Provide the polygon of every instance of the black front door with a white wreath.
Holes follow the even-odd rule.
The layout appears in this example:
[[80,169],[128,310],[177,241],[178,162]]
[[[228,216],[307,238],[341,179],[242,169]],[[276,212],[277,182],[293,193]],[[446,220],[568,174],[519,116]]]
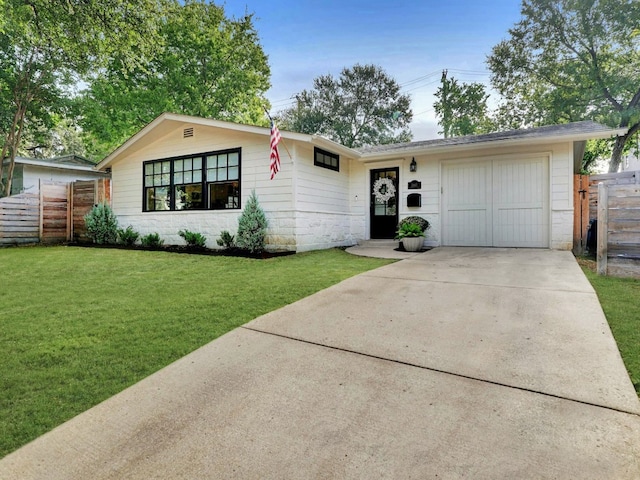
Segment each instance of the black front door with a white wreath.
[[371,238],[393,238],[398,226],[398,168],[371,170]]

